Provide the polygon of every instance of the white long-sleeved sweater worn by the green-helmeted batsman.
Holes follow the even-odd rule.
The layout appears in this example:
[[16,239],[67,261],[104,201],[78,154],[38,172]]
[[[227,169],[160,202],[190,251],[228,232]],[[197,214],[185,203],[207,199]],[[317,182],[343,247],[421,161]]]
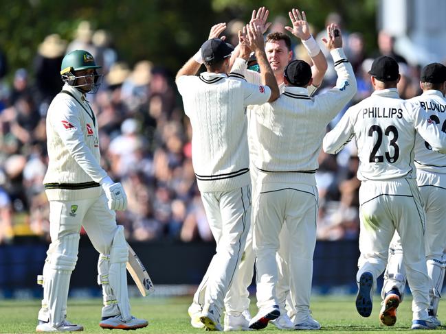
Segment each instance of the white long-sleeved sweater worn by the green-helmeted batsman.
[[107,172],[100,167],[98,124],[85,96],[65,84],[49,106],[46,123],[48,200],[98,197]]

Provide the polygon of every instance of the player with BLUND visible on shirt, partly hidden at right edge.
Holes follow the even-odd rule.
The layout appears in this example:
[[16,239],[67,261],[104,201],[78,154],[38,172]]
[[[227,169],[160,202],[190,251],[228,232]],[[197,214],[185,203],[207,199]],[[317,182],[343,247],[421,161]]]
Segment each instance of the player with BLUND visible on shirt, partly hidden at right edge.
[[[409,99],[408,102],[421,107],[425,115],[446,132],[446,67],[434,62],[421,71],[421,89],[423,94]],[[445,279],[446,266],[446,156],[432,150],[430,143],[419,134],[415,139],[416,182],[424,202],[426,230],[424,234],[427,274],[430,278],[430,307],[432,320],[441,325],[437,318],[438,302]],[[384,285],[381,291],[383,307],[380,319],[383,324],[393,326],[397,321],[396,309],[402,301],[406,270],[403,265],[404,252],[401,238],[397,233],[389,249],[389,260],[384,273]]]

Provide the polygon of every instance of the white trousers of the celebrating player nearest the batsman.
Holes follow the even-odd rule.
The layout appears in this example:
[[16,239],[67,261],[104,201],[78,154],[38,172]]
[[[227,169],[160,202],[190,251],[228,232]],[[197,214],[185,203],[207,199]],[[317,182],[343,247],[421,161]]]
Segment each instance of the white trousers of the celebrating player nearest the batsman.
[[245,249],[250,226],[251,185],[233,191],[201,192],[201,200],[216,241],[216,254],[194,294],[194,304],[201,309],[204,305],[214,305],[221,313]]

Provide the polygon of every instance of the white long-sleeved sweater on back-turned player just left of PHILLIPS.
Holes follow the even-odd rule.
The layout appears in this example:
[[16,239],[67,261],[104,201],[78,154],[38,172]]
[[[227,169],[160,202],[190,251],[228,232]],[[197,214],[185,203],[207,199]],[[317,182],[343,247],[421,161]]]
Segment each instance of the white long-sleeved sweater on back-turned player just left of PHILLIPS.
[[[317,156],[326,126],[357,91],[355,75],[344,51],[335,49],[331,55],[337,72],[335,87],[309,97],[307,88],[286,86],[275,102],[253,108],[256,128],[250,130],[255,130],[259,141],[254,165],[260,171],[260,182],[315,185]],[[311,86],[311,93],[314,90]]]

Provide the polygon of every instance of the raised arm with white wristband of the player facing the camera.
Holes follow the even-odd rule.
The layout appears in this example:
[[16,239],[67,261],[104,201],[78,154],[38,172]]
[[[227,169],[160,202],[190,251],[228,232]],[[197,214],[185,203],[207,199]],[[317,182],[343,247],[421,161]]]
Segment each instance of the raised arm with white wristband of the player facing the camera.
[[310,34],[305,12],[302,11],[302,14],[300,14],[298,9],[293,8],[288,15],[293,27],[287,26],[285,29],[302,41],[302,45],[304,45],[311,60],[313,60],[313,66],[311,67],[313,85],[320,86],[328,67],[324,53],[322,53],[319,45],[317,45],[315,39]]

